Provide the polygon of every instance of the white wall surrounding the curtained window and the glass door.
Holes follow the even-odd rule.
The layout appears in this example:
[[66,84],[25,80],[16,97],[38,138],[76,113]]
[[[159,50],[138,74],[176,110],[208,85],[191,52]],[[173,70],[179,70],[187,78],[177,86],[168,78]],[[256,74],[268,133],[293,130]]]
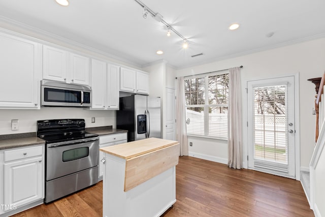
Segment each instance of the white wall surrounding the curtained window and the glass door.
[[[176,71],[176,75],[177,77],[194,75],[241,65],[244,66],[241,70],[243,127],[247,121],[247,101],[245,94],[247,81],[283,75],[296,75],[299,73],[301,168],[308,170],[314,147],[315,116],[312,115],[312,108],[314,105],[315,86],[307,81],[307,79],[321,77],[325,70],[325,38],[180,69]],[[191,140],[189,138],[189,142]],[[211,143],[216,146],[214,151],[211,151],[209,148]],[[243,135],[243,143],[247,147],[247,134]],[[199,145],[199,147],[196,147],[196,145]],[[210,142],[202,140],[201,144],[193,143],[193,146],[189,147],[189,151],[193,150],[216,159],[222,158],[227,154],[224,144],[216,140],[211,140]],[[244,150],[244,156],[246,154],[247,150]]]

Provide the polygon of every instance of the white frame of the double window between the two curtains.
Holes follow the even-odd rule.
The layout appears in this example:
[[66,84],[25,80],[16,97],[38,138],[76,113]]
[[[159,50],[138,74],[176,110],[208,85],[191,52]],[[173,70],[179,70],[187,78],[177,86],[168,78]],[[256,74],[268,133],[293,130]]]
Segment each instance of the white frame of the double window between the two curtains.
[[[218,139],[218,140],[224,140],[227,141],[228,140],[228,136],[226,137],[221,137],[221,136],[211,136],[209,135],[209,108],[216,108],[216,107],[229,107],[229,98],[226,104],[209,104],[209,77],[213,77],[213,76],[218,76],[218,75],[224,75],[227,74],[229,76],[229,70],[222,70],[219,72],[211,72],[211,73],[204,73],[204,74],[198,74],[198,75],[192,75],[192,76],[186,76],[184,77],[184,83],[185,80],[188,79],[196,79],[196,78],[204,78],[204,104],[202,105],[186,105],[186,100],[185,100],[185,117],[186,117],[186,110],[187,108],[197,108],[197,107],[202,107],[203,108],[203,113],[204,113],[204,133],[203,134],[190,134],[187,133],[187,128],[186,128],[186,133],[187,136],[190,137],[203,137],[203,138],[210,138],[210,139]],[[229,85],[229,77],[228,77],[228,85]],[[229,88],[228,88],[229,89]],[[185,90],[185,86],[184,86],[184,90]],[[186,96],[184,96],[186,99]],[[228,118],[228,117],[227,117]],[[187,119],[187,117],[186,117]],[[187,123],[185,123],[187,125]],[[228,125],[227,125],[227,134],[228,134]]]

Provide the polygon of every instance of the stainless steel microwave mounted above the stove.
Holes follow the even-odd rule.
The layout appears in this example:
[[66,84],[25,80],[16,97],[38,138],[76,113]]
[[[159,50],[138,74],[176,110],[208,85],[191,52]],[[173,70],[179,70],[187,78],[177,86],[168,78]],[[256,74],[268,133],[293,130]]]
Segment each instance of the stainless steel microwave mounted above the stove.
[[42,106],[90,107],[91,88],[58,81],[41,81]]

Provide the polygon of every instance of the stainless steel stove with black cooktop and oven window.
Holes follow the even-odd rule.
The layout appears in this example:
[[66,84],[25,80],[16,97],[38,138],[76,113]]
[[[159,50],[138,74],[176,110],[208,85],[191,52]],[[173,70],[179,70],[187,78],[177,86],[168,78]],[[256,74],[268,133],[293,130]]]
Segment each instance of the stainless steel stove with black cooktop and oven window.
[[45,143],[45,203],[98,182],[99,136],[85,132],[84,119],[37,121]]

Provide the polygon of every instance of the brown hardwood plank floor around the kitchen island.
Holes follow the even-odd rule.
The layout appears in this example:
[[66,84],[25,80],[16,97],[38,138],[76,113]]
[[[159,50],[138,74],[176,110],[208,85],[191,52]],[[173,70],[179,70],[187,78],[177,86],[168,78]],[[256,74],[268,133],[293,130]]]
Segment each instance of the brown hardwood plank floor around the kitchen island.
[[[103,216],[103,182],[14,216]],[[314,216],[300,181],[181,157],[170,216]]]

